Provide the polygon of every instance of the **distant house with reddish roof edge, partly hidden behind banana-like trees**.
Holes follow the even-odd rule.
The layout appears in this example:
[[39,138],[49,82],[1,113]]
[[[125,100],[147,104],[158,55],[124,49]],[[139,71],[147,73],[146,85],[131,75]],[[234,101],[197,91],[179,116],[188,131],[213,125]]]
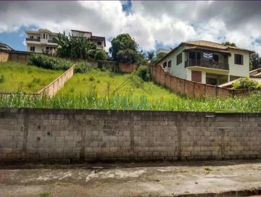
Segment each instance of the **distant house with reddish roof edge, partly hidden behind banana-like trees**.
[[92,32],[89,31],[79,31],[79,30],[71,30],[72,35],[76,37],[87,37],[89,38],[94,44],[97,46],[97,49],[102,49],[104,50],[106,46],[106,41],[105,37],[100,37],[100,36],[93,36]]

